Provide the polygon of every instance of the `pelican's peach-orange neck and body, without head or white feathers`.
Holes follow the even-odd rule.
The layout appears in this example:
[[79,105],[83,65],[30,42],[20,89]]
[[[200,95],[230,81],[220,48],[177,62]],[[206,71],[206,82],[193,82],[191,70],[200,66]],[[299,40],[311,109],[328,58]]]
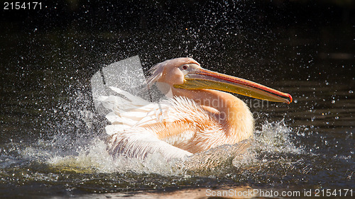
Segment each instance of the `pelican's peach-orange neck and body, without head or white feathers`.
[[[216,99],[218,101],[214,101]],[[212,101],[223,106],[209,106],[207,103]],[[155,132],[158,139],[192,154],[222,144],[235,144],[253,133],[253,116],[249,108],[229,93],[189,90],[170,103],[174,106],[170,118],[146,128]]]

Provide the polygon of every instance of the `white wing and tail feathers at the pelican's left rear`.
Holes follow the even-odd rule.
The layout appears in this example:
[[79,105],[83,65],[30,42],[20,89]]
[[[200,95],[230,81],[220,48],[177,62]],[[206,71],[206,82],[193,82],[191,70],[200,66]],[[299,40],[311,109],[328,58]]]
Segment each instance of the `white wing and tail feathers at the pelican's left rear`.
[[102,106],[112,110],[106,115],[111,123],[106,127],[106,132],[111,135],[108,142],[109,152],[118,157],[136,157],[144,159],[148,154],[160,153],[167,160],[183,159],[192,155],[158,137],[143,125],[160,123],[168,118],[170,103],[151,103],[121,89],[110,87],[119,96],[101,96],[98,101]]

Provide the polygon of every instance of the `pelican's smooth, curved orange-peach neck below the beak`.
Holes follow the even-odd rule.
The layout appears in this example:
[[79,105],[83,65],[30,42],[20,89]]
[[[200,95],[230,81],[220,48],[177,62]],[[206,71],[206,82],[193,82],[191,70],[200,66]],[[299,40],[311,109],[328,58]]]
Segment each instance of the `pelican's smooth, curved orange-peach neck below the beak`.
[[[253,115],[236,96],[216,90],[187,90],[172,88],[173,96],[185,96],[205,107],[223,126],[226,136],[236,140],[248,139],[253,133]],[[217,111],[214,111],[217,110]]]

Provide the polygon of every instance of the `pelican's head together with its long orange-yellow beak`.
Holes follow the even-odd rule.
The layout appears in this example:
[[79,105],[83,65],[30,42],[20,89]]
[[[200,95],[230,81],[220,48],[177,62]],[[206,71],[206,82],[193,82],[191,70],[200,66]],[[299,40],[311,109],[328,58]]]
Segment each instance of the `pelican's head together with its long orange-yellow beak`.
[[288,93],[283,93],[246,79],[203,69],[195,59],[188,57],[169,59],[156,64],[151,69],[148,86],[151,86],[156,81],[169,84],[171,87],[178,89],[214,89],[266,101],[292,102],[292,96]]

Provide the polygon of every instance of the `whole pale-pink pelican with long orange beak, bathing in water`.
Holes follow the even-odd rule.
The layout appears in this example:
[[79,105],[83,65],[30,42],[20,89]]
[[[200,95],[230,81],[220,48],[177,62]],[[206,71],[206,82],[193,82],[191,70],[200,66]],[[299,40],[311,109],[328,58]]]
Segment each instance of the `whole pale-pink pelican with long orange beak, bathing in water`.
[[231,93],[292,102],[288,93],[203,69],[188,57],[168,59],[150,72],[148,87],[165,85],[168,99],[152,103],[114,87],[111,89],[118,95],[99,98],[111,111],[106,116],[111,122],[106,132],[110,135],[108,152],[114,157],[145,159],[149,154],[160,154],[167,160],[186,159],[251,138],[253,115],[246,103]]

